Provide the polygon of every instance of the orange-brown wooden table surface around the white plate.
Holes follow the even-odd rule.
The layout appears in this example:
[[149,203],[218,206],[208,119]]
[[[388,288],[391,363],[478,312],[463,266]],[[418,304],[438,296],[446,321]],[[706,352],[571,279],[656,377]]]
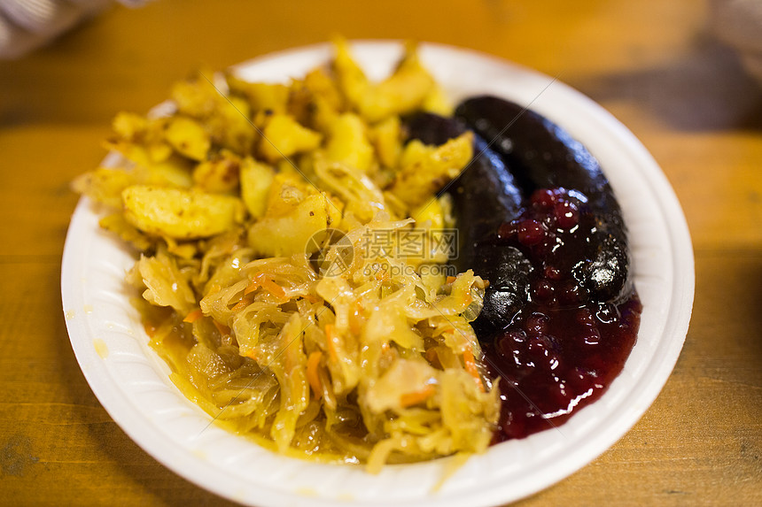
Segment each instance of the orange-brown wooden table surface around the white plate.
[[0,503],[224,504],[122,433],[85,382],[59,295],[75,175],[117,111],[333,33],[482,50],[578,88],[632,129],[688,218],[696,303],[641,421],[525,505],[762,504],[762,92],[706,30],[701,2],[181,2],[115,7],[0,63]]

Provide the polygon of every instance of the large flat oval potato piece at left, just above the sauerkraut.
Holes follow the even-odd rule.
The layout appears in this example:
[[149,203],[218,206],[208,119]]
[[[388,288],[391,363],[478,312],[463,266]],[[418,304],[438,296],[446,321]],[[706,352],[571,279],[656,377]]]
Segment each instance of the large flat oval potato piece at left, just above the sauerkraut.
[[176,240],[220,234],[244,219],[244,206],[237,197],[148,185],[125,188],[121,197],[128,223],[144,233]]

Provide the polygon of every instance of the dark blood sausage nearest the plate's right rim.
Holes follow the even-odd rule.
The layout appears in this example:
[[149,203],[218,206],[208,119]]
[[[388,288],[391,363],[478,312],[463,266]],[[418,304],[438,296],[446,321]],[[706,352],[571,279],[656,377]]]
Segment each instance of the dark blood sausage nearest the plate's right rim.
[[[580,211],[595,217],[584,259],[574,278],[599,301],[621,302],[631,293],[630,258],[622,211],[601,165],[562,127],[522,106],[494,96],[460,104],[455,116],[490,142],[526,196],[542,188],[577,190],[587,196]],[[573,196],[573,192],[571,192]]]

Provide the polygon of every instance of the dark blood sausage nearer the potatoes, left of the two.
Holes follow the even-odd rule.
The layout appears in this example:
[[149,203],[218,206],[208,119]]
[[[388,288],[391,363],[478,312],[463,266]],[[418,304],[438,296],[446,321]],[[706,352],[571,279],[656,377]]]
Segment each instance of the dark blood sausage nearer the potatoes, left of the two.
[[[439,145],[465,132],[456,119],[419,113],[406,121],[408,138]],[[453,198],[458,226],[458,253],[450,260],[459,272],[473,269],[489,280],[484,308],[473,322],[479,337],[492,336],[509,325],[529,297],[532,269],[517,248],[502,245],[497,230],[522,211],[522,196],[501,157],[478,135],[470,165],[446,189]]]

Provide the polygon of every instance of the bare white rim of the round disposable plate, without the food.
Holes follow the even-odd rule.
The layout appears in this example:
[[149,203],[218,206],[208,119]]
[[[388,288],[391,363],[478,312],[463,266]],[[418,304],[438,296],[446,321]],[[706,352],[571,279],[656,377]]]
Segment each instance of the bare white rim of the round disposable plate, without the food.
[[[357,42],[369,76],[388,73],[397,42]],[[231,500],[280,505],[496,505],[531,495],[579,470],[629,430],[672,372],[688,330],[694,267],[680,204],[649,152],[607,111],[548,76],[469,50],[434,44],[421,58],[455,99],[481,93],[530,104],[584,142],[603,165],[624,210],[643,303],[641,330],[624,371],[603,397],[557,430],[501,443],[435,490],[445,460],[387,466],[319,465],[276,456],[209,426],[210,418],[167,379],[128,303],[134,257],[99,230],[82,199],[69,227],[61,288],[72,347],[106,411],[146,452],[188,480]],[[250,80],[286,81],[330,58],[327,45],[239,65]]]

